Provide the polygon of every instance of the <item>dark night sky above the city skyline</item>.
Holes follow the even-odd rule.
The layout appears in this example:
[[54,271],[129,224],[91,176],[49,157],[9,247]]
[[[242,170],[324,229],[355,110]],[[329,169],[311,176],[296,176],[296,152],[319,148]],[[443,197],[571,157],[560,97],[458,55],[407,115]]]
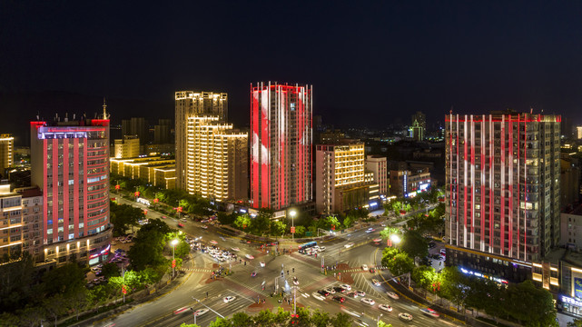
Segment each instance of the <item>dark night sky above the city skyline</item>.
[[314,114],[340,127],[451,107],[582,123],[582,2],[0,3],[0,133],[52,99],[94,113],[107,96],[114,122],[153,122],[190,89],[227,92],[244,126],[250,84],[268,80],[313,84]]

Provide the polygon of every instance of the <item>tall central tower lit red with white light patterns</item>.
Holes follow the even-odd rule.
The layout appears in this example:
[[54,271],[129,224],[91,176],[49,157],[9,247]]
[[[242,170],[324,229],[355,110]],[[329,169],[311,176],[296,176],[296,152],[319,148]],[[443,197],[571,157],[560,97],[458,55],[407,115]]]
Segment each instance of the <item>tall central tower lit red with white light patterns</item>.
[[252,207],[311,202],[311,94],[311,85],[251,84]]

